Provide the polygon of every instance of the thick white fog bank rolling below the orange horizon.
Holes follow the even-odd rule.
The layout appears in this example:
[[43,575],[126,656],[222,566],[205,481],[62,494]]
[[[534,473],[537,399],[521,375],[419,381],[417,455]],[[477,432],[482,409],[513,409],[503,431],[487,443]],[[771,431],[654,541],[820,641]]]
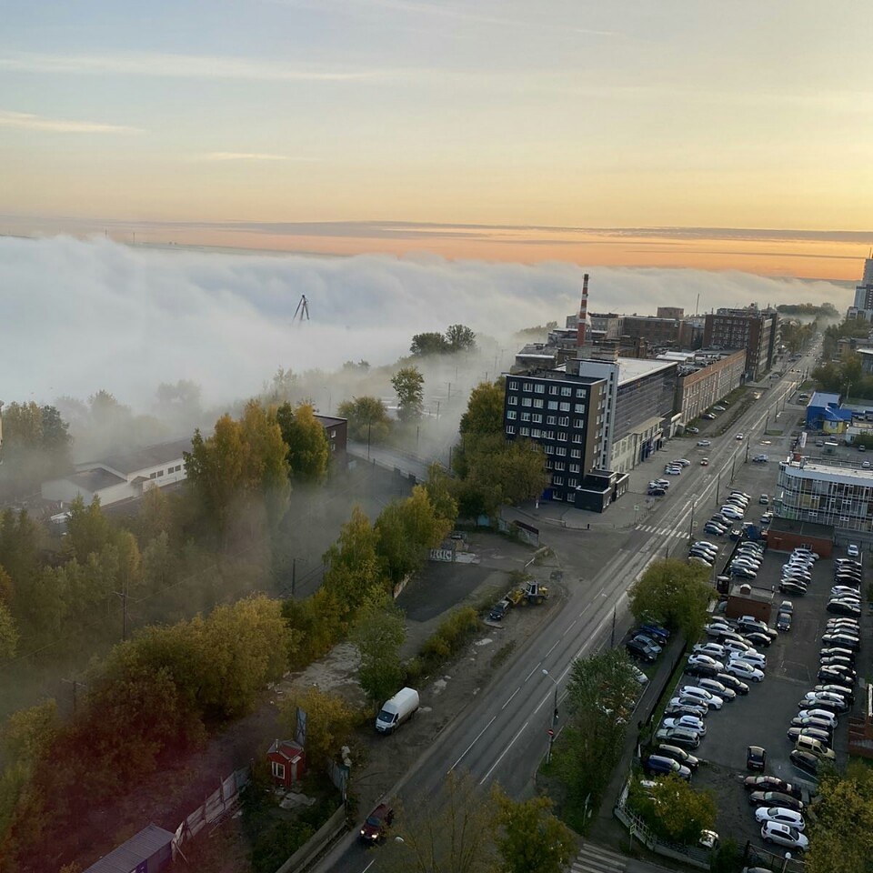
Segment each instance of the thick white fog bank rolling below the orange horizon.
[[[158,384],[186,379],[216,405],[256,394],[279,366],[298,373],[334,370],[346,360],[388,364],[408,353],[413,334],[457,323],[495,337],[494,347],[503,348],[495,363],[505,368],[516,330],[563,325],[576,311],[584,272],[564,263],[235,255],[102,238],[2,237],[0,398],[51,403],[105,388],[147,411]],[[588,272],[594,312],[654,314],[658,305],[694,312],[698,294],[700,311],[752,301],[829,300],[840,310],[849,303],[844,286],[824,281]],[[302,325],[293,320],[301,295],[310,315]],[[334,411],[339,399],[329,399]],[[324,400],[321,406],[326,411]]]

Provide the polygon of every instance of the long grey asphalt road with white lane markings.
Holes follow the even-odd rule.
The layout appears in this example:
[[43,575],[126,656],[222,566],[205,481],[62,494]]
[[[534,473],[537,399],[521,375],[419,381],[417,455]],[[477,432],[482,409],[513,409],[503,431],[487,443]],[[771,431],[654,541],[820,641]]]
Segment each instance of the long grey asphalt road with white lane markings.
[[[717,492],[723,496],[732,471],[745,460],[747,443],[738,442],[735,434],[761,434],[771,411],[793,390],[809,359],[793,366],[798,372],[789,370],[784,378],[774,380],[730,432],[713,440],[707,449],[708,467],[687,467],[676,477],[669,501],[647,518],[650,525],[659,526],[657,530],[600,535],[596,543],[581,531],[549,528],[544,538],[563,566],[571,568],[565,573],[565,581],[569,577],[571,582],[566,605],[476,703],[458,714],[389,796],[399,795],[407,805],[416,798],[431,798],[453,770],[467,771],[482,787],[499,781],[511,797],[531,793],[537,766],[547,751],[556,693],[560,703],[573,660],[610,645],[614,622],[623,627],[627,621],[627,588],[653,560],[664,557],[667,549],[684,551],[694,515],[702,517],[705,503],[714,506]],[[575,574],[577,581],[573,581]],[[619,631],[615,637],[620,638]],[[377,854],[356,845],[355,835],[353,830],[341,840],[316,870],[376,873]]]

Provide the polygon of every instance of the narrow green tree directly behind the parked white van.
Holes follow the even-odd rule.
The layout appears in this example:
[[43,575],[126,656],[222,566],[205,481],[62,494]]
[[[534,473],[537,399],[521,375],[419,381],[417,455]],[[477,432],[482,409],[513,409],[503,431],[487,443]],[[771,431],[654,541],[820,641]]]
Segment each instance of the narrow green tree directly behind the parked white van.
[[396,693],[404,679],[400,647],[406,622],[384,591],[371,593],[357,611],[351,633],[361,656],[358,681],[367,697],[379,704]]

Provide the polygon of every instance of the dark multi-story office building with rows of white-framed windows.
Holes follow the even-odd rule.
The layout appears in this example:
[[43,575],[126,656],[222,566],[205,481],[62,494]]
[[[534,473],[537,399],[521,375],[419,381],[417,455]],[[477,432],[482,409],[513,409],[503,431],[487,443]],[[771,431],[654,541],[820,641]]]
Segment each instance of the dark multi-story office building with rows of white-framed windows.
[[600,457],[606,390],[605,379],[574,376],[563,369],[507,376],[506,436],[527,437],[543,447],[551,473],[546,497],[581,506],[579,497],[591,486]]

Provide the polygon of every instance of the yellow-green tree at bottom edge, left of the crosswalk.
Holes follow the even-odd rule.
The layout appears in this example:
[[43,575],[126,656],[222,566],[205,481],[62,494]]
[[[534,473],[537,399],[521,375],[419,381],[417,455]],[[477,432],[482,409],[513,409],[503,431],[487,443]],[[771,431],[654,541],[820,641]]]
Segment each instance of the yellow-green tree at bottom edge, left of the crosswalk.
[[577,853],[570,828],[552,814],[546,797],[516,801],[499,788],[497,804],[497,852],[506,873],[564,873]]

